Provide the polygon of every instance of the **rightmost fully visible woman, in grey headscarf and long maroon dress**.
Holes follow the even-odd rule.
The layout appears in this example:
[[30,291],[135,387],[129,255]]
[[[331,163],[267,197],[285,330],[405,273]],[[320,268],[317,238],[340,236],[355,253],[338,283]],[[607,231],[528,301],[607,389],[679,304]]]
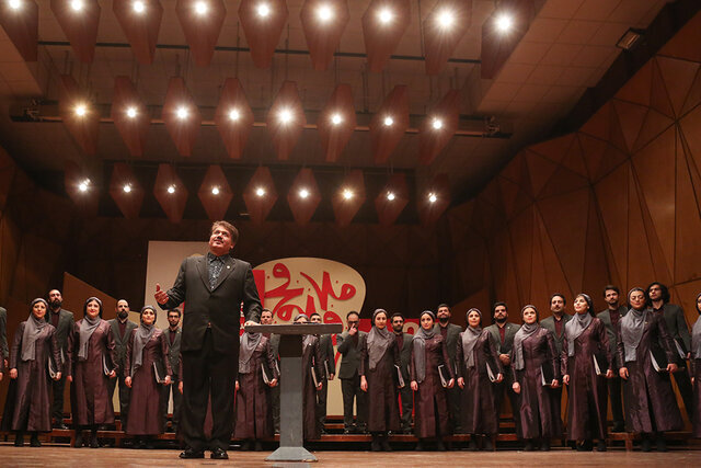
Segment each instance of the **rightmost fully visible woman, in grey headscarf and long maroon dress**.
[[[643,452],[651,450],[653,436],[657,450],[666,452],[663,433],[683,426],[669,378],[669,373],[677,370],[676,347],[664,317],[647,308],[642,288],[631,289],[628,303],[631,309],[618,322],[617,349],[625,423],[629,431],[641,433]],[[666,362],[662,362],[663,356]],[[659,370],[655,370],[655,364]]]

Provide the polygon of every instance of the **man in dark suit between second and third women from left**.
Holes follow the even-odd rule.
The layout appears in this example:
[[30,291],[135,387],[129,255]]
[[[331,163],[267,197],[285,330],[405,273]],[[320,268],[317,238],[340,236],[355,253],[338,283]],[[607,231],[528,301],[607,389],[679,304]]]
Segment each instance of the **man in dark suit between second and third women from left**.
[[[107,320],[112,328],[112,336],[114,336],[114,355],[117,365],[117,378],[119,380],[119,421],[122,422],[122,430],[127,426],[127,415],[129,414],[129,395],[130,389],[127,387],[124,379],[129,375],[129,369],[125,369],[127,359],[127,343],[131,335],[131,330],[138,326],[129,320],[129,303],[126,299],[117,300],[115,307],[117,318]],[[114,389],[117,385],[117,379],[110,379],[110,396],[114,395]]]

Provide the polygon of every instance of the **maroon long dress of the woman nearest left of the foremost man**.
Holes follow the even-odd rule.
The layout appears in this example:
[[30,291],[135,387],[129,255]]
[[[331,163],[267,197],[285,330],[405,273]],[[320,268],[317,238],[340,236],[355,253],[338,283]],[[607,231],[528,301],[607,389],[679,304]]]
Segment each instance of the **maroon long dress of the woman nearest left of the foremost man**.
[[[131,330],[127,342],[125,375],[131,373],[134,355],[134,339],[138,328]],[[162,385],[156,381],[153,363],[163,364],[165,374],[173,376],[170,359],[168,359],[169,343],[163,331],[156,329],[146,342],[141,354],[141,366],[131,376],[131,396],[129,398],[129,418],[127,418],[126,433],[129,435],[157,435],[163,433],[163,413],[161,407]],[[177,390],[176,390],[177,391]]]

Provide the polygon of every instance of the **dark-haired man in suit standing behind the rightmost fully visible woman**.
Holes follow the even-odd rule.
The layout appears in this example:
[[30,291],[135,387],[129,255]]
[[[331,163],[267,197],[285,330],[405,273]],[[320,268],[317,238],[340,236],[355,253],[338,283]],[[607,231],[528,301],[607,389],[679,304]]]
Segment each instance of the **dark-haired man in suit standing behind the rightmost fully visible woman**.
[[669,303],[669,289],[662,283],[654,282],[647,286],[647,298],[652,303],[653,312],[664,317],[667,332],[671,336],[673,350],[675,351],[675,363],[677,372],[674,373],[679,395],[687,409],[689,420],[693,419],[693,389],[691,388],[691,377],[687,372],[687,359],[691,349],[691,335],[689,326],[680,306]]

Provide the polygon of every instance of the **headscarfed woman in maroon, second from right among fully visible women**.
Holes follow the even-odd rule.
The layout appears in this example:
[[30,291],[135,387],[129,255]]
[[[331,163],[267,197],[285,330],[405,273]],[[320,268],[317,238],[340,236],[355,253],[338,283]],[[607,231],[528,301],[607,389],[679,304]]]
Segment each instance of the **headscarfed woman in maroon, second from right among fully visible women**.
[[[609,338],[604,322],[594,317],[594,301],[586,294],[574,299],[574,319],[565,323],[562,344],[562,381],[568,385],[567,438],[579,452],[606,452],[607,384],[613,377]],[[598,366],[598,368],[597,368]]]

